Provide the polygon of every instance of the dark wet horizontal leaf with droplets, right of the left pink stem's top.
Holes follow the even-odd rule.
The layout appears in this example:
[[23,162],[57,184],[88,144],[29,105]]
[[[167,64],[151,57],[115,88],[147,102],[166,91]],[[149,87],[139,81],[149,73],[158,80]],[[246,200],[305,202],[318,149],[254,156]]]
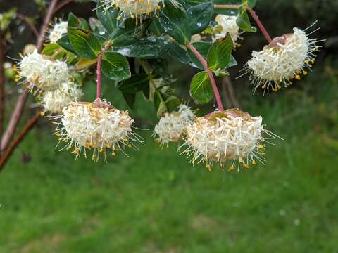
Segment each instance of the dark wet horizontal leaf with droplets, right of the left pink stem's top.
[[114,47],[113,51],[135,58],[158,58],[168,51],[168,41],[164,37],[149,36],[129,46]]

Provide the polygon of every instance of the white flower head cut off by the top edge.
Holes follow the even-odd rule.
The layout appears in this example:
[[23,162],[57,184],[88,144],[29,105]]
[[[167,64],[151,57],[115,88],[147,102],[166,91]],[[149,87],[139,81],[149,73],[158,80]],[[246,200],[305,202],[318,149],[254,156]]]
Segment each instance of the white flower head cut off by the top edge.
[[[165,6],[163,0],[102,0],[101,2],[104,5],[104,10],[113,6],[120,8],[122,13],[119,18],[126,15],[130,15],[131,18],[139,18],[142,15],[154,13],[159,10],[161,6]],[[174,5],[177,4],[175,0],[170,0],[170,2]]]

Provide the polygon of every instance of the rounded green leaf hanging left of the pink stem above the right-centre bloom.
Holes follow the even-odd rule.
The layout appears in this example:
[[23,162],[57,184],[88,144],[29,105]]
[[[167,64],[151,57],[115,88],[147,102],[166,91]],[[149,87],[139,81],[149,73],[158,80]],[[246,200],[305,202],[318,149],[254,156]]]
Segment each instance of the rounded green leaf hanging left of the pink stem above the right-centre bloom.
[[202,104],[208,103],[213,98],[213,87],[207,72],[202,71],[194,75],[190,85],[190,96],[196,103]]

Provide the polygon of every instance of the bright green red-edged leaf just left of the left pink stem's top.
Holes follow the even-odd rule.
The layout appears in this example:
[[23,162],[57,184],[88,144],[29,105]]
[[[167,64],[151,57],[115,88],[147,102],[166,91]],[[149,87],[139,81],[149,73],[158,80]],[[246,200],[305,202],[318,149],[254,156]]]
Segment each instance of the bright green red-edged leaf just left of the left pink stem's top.
[[99,40],[89,30],[68,27],[68,36],[78,56],[94,59],[101,52]]

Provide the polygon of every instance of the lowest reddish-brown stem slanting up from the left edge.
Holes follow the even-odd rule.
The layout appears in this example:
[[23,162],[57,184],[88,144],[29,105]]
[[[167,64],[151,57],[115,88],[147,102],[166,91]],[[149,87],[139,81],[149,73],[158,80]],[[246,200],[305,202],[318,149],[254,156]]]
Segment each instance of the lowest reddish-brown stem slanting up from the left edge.
[[16,146],[20,143],[20,141],[23,140],[25,135],[32,129],[32,127],[37,123],[39,118],[41,117],[41,112],[36,112],[34,117],[32,117],[25,126],[23,126],[23,130],[20,132],[20,134],[13,140],[11,145],[6,149],[3,155],[0,157],[0,172],[2,169],[4,169],[4,164],[6,164],[9,157],[11,157],[13,151],[15,150]]

